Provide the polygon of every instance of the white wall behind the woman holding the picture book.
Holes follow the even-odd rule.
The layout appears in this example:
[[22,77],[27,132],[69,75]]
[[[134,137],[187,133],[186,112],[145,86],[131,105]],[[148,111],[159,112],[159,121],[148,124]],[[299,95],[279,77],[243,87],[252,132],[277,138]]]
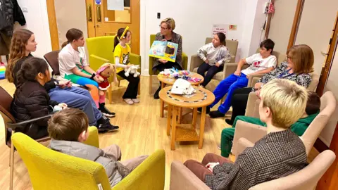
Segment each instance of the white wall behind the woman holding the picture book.
[[[190,56],[204,45],[206,37],[211,37],[213,24],[237,25],[236,31],[228,32],[227,39],[239,41],[237,60],[248,56],[251,39],[256,37],[256,33],[253,35],[253,23],[255,20],[261,25],[264,23],[264,18],[263,21],[258,15],[256,18],[256,10],[257,13],[263,15],[263,0],[173,0],[170,4],[167,2],[163,0],[141,1],[142,75],[148,73],[150,34],[160,32],[158,25],[164,18],[175,19],[175,32],[183,37],[183,51],[187,53],[189,61]],[[157,13],[161,13],[161,19],[157,18]],[[259,43],[259,35],[256,42]],[[255,46],[254,43],[252,46]],[[254,48],[255,51],[256,48],[257,46]]]

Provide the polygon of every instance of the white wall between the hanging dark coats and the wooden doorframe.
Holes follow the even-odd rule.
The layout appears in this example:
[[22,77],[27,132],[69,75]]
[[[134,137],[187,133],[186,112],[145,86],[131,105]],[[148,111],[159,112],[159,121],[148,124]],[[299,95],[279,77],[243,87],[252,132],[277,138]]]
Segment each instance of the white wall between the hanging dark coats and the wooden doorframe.
[[[23,13],[27,22],[24,27],[34,32],[38,44],[37,51],[33,55],[42,58],[45,53],[51,51],[46,0],[18,0],[18,4],[21,8],[27,8],[28,12]],[[18,28],[20,25],[15,25],[15,30]]]

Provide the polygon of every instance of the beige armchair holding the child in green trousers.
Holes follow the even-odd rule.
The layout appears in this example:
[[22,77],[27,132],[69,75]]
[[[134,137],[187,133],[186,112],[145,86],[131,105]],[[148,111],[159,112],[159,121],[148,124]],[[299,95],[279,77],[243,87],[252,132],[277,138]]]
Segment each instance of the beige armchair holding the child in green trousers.
[[[315,117],[313,122],[308,126],[308,129],[301,136],[306,154],[310,153],[315,140],[318,138],[320,132],[324,129],[327,122],[330,120],[334,110],[336,109],[336,99],[331,91],[325,92],[320,98],[320,113]],[[244,137],[249,141],[255,143],[266,134],[266,127],[250,124],[244,121],[237,121],[236,129],[234,131],[234,142]],[[232,154],[237,153],[237,144],[232,146]]]

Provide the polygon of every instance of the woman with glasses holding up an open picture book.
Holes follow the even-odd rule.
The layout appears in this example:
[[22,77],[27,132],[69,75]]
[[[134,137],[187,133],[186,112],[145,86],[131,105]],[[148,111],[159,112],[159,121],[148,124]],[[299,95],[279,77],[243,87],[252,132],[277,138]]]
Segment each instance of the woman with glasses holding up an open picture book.
[[[175,44],[178,44],[177,49],[177,56],[176,56],[176,62],[171,61],[165,61],[163,59],[155,58],[154,59],[154,65],[153,65],[153,72],[163,71],[166,68],[177,68],[178,70],[182,70],[182,37],[180,34],[176,34],[173,32],[175,30],[175,20],[173,18],[165,18],[161,21],[161,32],[156,34],[156,41],[167,41],[167,42],[173,42]],[[154,99],[159,99],[158,92],[161,90],[161,84],[160,87],[156,90],[154,94]]]

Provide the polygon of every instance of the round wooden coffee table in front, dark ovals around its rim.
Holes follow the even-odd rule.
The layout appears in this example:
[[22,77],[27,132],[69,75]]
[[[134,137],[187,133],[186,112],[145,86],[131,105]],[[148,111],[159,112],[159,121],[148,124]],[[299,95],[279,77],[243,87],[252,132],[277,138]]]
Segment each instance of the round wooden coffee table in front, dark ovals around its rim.
[[[171,94],[171,88],[171,86],[165,87],[159,93],[160,99],[168,103],[167,135],[170,135],[171,127],[171,150],[175,150],[175,141],[199,141],[199,149],[201,149],[206,122],[206,106],[215,101],[215,96],[211,91],[201,87],[194,87],[196,94],[192,95]],[[193,108],[192,124],[177,123],[177,120],[180,122],[181,108]],[[202,108],[199,135],[196,132],[197,108]]]

